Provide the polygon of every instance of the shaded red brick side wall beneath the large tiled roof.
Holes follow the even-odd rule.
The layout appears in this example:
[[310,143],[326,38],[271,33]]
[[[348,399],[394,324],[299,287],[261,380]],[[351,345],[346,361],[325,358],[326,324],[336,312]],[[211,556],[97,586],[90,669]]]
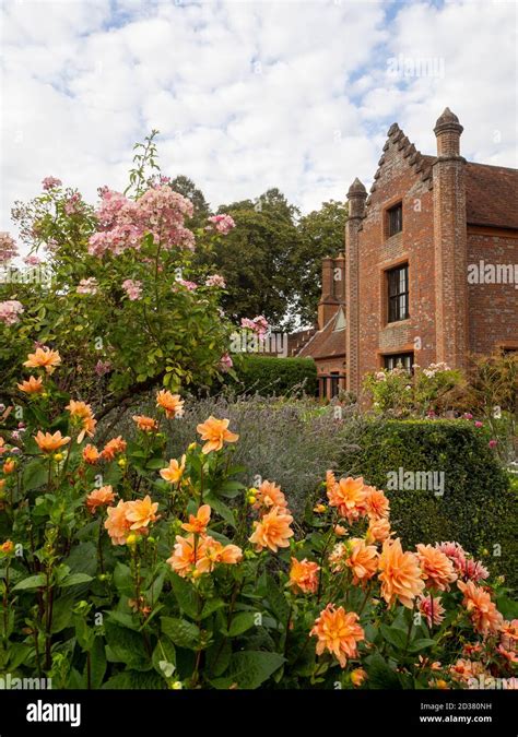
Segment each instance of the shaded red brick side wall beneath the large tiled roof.
[[[468,228],[468,265],[518,264],[518,233]],[[517,287],[517,288],[515,288]],[[468,284],[469,349],[488,354],[495,344],[518,347],[518,283]]]

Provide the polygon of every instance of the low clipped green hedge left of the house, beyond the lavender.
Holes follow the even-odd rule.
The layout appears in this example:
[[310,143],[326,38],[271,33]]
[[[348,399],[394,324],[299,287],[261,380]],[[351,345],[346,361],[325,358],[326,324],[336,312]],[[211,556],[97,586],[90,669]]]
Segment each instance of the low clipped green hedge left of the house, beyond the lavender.
[[228,384],[239,392],[264,396],[317,392],[317,367],[311,358],[275,358],[244,354],[235,360],[235,379]]

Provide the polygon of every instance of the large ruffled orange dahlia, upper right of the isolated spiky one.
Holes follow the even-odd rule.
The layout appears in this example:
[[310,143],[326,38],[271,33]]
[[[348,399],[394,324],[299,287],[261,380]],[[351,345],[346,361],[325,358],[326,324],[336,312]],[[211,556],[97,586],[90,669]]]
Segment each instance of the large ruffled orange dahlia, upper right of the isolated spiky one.
[[424,589],[419,558],[413,552],[403,552],[400,539],[385,540],[379,556],[381,596],[391,606],[399,599],[411,608],[413,599]]

